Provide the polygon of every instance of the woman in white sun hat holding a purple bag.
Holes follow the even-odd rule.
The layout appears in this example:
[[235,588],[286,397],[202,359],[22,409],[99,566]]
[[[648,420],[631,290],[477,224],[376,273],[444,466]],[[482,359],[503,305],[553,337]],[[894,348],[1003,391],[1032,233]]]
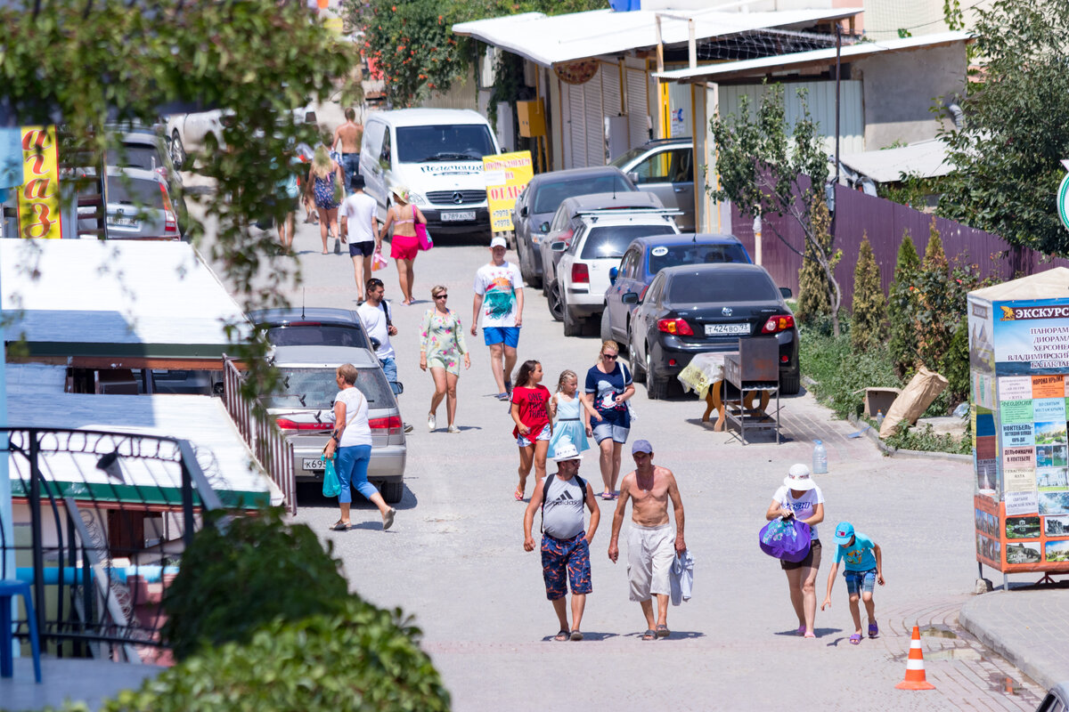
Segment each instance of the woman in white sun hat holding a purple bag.
[[802,463],[791,465],[783,486],[772,495],[769,510],[764,512],[770,522],[780,517],[793,517],[809,525],[812,541],[809,554],[797,563],[781,560],[779,564],[787,573],[791,605],[799,617],[799,635],[814,638],[817,637],[812,621],[817,617],[817,569],[820,568],[821,550],[817,524],[824,521],[824,495],[812,481],[809,468]]

